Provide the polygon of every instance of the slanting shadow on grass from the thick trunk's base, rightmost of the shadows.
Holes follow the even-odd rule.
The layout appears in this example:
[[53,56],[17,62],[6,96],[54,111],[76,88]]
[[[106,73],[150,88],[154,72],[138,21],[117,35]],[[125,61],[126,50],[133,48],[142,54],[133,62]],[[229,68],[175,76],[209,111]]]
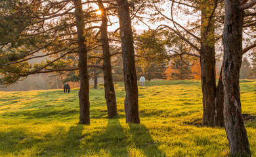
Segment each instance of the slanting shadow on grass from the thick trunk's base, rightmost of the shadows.
[[135,146],[142,150],[145,156],[166,156],[165,152],[158,148],[157,143],[152,139],[148,129],[144,125],[129,124],[129,127]]

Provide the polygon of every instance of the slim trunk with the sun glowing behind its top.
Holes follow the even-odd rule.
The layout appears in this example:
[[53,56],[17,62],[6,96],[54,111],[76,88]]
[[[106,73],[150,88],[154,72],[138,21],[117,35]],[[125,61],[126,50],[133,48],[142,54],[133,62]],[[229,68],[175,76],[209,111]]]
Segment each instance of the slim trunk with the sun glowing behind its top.
[[101,43],[103,50],[103,73],[104,73],[104,89],[105,99],[108,109],[108,118],[112,118],[117,114],[116,107],[116,92],[114,89],[114,83],[112,79],[112,67],[111,67],[111,54],[110,46],[108,43],[108,18],[106,17],[106,10],[102,3],[102,0],[98,0],[98,7],[102,11],[101,13]]

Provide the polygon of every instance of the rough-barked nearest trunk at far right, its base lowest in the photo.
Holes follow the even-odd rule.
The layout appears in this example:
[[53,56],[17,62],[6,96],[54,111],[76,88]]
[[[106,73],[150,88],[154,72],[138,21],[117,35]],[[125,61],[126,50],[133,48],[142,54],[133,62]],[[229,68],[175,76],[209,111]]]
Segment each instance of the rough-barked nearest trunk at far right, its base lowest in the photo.
[[240,0],[224,0],[224,124],[230,154],[251,156],[240,101],[239,72],[242,63],[242,26],[244,21],[244,11],[239,9],[240,3]]

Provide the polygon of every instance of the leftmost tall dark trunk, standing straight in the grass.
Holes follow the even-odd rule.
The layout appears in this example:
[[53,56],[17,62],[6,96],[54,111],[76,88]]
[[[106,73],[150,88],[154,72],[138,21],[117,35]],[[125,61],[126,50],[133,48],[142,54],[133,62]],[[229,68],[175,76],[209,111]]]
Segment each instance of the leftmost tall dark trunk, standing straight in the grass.
[[83,21],[83,9],[81,0],[74,0],[75,18],[78,39],[78,54],[79,54],[79,123],[90,124],[90,101],[89,101],[89,76],[87,72],[87,47],[83,30],[85,22]]

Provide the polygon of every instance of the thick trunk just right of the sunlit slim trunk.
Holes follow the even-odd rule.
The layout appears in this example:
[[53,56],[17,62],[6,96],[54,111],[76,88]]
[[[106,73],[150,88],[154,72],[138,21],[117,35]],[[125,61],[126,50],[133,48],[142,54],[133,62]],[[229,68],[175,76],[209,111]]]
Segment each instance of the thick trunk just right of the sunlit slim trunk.
[[121,31],[121,51],[123,56],[123,75],[126,92],[126,122],[140,123],[133,31],[131,28],[129,3],[127,0],[117,0],[117,12]]

